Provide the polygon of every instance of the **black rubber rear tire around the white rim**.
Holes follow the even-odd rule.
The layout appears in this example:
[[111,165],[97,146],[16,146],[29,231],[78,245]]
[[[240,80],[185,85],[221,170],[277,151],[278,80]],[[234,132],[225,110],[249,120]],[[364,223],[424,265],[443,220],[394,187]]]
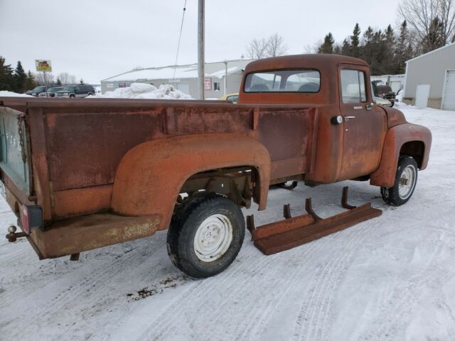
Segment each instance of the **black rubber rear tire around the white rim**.
[[[232,240],[225,244],[228,249],[218,259],[204,261],[200,258],[203,255],[196,254],[196,232],[206,219],[214,215],[229,220]],[[242,247],[244,237],[245,219],[240,207],[223,195],[199,193],[181,204],[173,215],[167,235],[168,255],[172,263],[185,274],[206,278],[219,274],[230,266]]]

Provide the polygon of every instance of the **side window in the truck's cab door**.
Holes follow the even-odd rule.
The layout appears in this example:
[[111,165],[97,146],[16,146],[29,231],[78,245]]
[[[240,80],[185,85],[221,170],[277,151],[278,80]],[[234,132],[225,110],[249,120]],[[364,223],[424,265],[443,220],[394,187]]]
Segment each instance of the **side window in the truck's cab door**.
[[343,103],[367,102],[365,72],[341,70],[341,95]]

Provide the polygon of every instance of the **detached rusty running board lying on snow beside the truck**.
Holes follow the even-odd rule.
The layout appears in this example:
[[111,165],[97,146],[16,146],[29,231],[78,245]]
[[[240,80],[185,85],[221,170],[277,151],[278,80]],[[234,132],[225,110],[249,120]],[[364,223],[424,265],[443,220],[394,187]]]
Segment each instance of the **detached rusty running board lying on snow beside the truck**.
[[305,200],[305,210],[308,214],[291,217],[291,210],[287,204],[283,207],[285,220],[255,227],[255,217],[249,215],[247,229],[251,233],[255,247],[263,254],[276,254],[382,215],[382,211],[371,207],[370,202],[359,207],[348,205],[347,187],[343,188],[341,206],[348,211],[323,219],[316,215],[309,198]]

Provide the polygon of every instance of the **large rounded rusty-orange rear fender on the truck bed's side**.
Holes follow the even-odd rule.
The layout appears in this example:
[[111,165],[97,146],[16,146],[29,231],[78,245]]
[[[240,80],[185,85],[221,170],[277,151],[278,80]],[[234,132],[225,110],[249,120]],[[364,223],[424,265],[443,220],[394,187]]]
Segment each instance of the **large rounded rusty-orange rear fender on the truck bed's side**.
[[267,205],[270,156],[257,140],[238,134],[198,134],[156,139],[132,148],[117,168],[111,207],[121,215],[159,215],[166,229],[183,183],[216,168],[252,166],[257,170],[256,200]]

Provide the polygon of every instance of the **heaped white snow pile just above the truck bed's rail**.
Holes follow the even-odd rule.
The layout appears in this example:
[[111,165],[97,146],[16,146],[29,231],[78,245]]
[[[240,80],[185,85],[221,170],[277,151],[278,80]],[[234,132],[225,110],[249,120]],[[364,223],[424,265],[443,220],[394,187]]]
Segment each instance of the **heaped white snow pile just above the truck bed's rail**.
[[189,94],[177,90],[172,85],[164,84],[156,88],[154,85],[145,83],[133,83],[129,87],[119,87],[114,91],[87,98],[193,99]]

